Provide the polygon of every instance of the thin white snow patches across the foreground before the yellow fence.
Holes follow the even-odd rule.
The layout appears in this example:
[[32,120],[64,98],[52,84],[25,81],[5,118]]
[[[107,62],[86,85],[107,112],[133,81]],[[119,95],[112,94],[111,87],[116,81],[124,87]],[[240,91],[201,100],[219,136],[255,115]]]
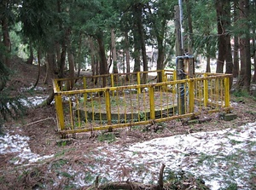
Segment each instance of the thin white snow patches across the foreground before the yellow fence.
[[[21,135],[0,136],[0,154],[17,153],[13,164],[33,163],[53,156],[32,153],[28,141],[28,137]],[[174,135],[126,147],[106,144],[84,153],[85,158],[95,160],[94,164],[84,163],[86,170],[70,168],[67,172],[76,176],[73,184],[78,187],[90,185],[98,175],[101,182],[130,179],[156,183],[160,165],[166,164],[165,178],[170,171],[183,170],[201,177],[213,190],[232,183],[238,189],[250,189],[247,181],[256,167],[255,153],[256,122],[236,129]]]

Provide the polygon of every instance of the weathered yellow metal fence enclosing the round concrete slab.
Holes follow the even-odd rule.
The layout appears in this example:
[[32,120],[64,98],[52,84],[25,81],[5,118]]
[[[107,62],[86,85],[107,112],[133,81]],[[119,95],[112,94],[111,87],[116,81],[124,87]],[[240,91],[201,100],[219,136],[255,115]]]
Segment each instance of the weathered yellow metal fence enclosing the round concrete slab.
[[[164,82],[157,83],[157,72],[161,72]],[[55,79],[59,131],[111,130],[192,118],[201,112],[230,111],[230,75],[197,73],[196,78],[177,81],[175,72],[163,70],[152,76],[148,72],[147,83],[141,83],[143,73]],[[108,83],[99,88],[103,78]],[[67,90],[72,80],[77,82],[73,90]]]

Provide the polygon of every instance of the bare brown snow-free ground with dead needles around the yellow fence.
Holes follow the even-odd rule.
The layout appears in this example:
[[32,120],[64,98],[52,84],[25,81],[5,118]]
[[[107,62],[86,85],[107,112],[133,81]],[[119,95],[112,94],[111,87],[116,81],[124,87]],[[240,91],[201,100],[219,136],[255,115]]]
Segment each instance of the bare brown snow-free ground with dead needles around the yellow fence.
[[[12,71],[14,75],[9,82],[9,86],[13,88],[12,94],[23,93],[26,96],[45,96],[49,95],[52,90],[50,81],[44,84],[45,68],[41,68],[40,80],[38,87],[42,89],[34,90],[30,93],[22,92],[22,88],[29,88],[35,83],[38,75],[38,66],[27,65],[20,59],[13,61]],[[113,144],[123,144],[124,146],[130,143],[147,141],[158,137],[188,134],[197,131],[212,131],[221,130],[225,128],[232,128],[241,126],[256,121],[256,93],[255,96],[236,96],[231,95],[231,106],[237,118],[232,121],[224,121],[219,117],[218,113],[201,116],[206,121],[201,124],[187,125],[182,121],[170,121],[162,124],[158,131],[150,130],[148,126],[140,128],[129,128],[125,130],[114,131],[116,141]],[[37,153],[41,156],[49,154],[62,153],[63,157],[69,160],[69,164],[76,164],[79,162],[91,162],[82,158],[81,154],[86,152],[93,152],[96,147],[101,147],[106,141],[99,141],[97,136],[103,132],[89,133],[78,135],[68,144],[68,150],[64,151],[66,147],[60,146],[60,135],[57,133],[57,126],[55,120],[55,106],[52,104],[47,107],[31,107],[26,111],[26,115],[18,120],[9,120],[3,125],[3,132],[10,135],[25,135],[29,137],[29,147],[32,153]],[[123,138],[125,136],[125,138]],[[38,184],[52,183],[51,177],[56,174],[47,174],[49,164],[55,163],[56,158],[49,158],[46,163],[32,164],[32,165],[15,165],[10,162],[14,157],[14,153],[0,154],[0,184],[1,189],[44,189]],[[61,157],[61,158],[63,158]],[[52,175],[52,176],[51,176]],[[252,179],[256,180],[256,179]],[[61,184],[67,184],[66,179],[61,181],[55,189],[63,189]],[[66,186],[66,189],[73,189],[73,187]],[[85,187],[84,187],[85,188]],[[199,189],[199,188],[198,188]],[[201,188],[203,189],[203,188]]]

